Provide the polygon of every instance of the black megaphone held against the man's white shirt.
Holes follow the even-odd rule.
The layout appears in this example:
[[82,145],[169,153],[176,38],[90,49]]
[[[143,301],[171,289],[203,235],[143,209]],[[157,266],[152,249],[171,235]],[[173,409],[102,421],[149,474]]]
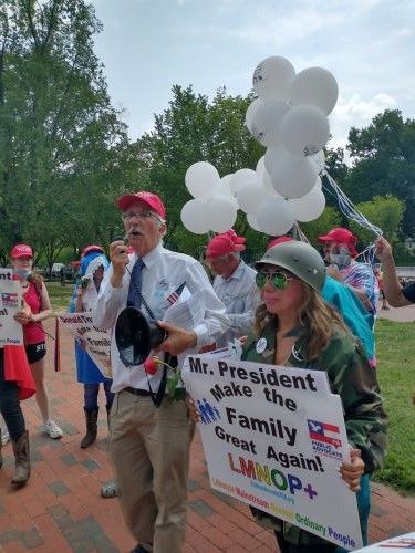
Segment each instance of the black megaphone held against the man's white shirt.
[[115,343],[125,367],[144,363],[166,337],[167,332],[148,321],[137,307],[125,307],[115,323]]

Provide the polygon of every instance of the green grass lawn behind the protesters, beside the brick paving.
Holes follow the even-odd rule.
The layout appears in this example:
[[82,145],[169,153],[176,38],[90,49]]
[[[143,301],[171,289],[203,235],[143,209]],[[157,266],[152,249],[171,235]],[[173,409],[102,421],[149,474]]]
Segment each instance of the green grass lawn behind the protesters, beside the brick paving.
[[[48,282],[54,311],[66,311],[72,284]],[[401,492],[415,493],[415,323],[376,323],[377,378],[390,417],[388,450],[375,480]]]

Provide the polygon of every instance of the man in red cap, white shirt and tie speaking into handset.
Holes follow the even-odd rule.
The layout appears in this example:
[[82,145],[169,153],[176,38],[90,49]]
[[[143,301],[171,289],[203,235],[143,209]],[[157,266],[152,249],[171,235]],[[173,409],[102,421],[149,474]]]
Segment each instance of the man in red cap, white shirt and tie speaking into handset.
[[[166,323],[168,332],[159,349],[178,356],[218,340],[226,330],[225,306],[216,296],[204,268],[195,259],[166,250],[166,230],[160,198],[139,191],[117,200],[128,244],[116,240],[110,246],[110,267],[93,316],[101,328],[114,328],[121,311],[131,304],[139,286],[141,311],[162,319],[167,299],[183,284],[204,303],[204,317],[191,330]],[[139,284],[134,267],[139,265]],[[132,278],[132,274],[134,275]],[[131,285],[131,281],[133,281]],[[139,294],[138,294],[139,295]],[[143,300],[144,299],[144,300]],[[112,334],[111,358],[115,398],[111,413],[111,455],[121,488],[124,519],[137,541],[134,552],[179,553],[186,523],[186,495],[191,425],[184,400],[164,397],[157,408],[153,401],[163,375],[153,375],[144,365],[124,366]],[[153,393],[153,392],[154,393]]]

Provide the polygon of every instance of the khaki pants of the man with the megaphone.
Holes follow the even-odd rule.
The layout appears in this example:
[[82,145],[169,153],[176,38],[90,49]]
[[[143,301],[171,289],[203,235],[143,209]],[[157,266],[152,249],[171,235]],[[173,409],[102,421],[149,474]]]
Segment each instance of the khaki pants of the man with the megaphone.
[[186,524],[191,425],[185,401],[129,392],[115,395],[111,411],[111,456],[120,503],[137,543],[155,553],[179,553]]

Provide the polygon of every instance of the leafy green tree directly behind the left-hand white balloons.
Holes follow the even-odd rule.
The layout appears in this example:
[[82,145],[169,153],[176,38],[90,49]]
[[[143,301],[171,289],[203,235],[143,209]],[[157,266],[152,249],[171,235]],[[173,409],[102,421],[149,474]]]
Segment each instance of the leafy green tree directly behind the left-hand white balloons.
[[[217,91],[209,103],[207,96],[196,94],[191,86],[173,87],[169,107],[155,116],[155,128],[142,137],[138,149],[149,164],[151,188],[162,195],[167,204],[168,234],[173,248],[184,243],[187,231],[180,223],[180,210],[190,199],[185,186],[188,167],[200,160],[215,165],[220,176],[242,167],[255,168],[263,154],[246,129],[245,113],[252,98],[229,96],[225,88]],[[245,217],[238,217],[245,225]],[[181,228],[180,228],[181,227]],[[206,237],[185,240],[188,252],[198,254]]]

